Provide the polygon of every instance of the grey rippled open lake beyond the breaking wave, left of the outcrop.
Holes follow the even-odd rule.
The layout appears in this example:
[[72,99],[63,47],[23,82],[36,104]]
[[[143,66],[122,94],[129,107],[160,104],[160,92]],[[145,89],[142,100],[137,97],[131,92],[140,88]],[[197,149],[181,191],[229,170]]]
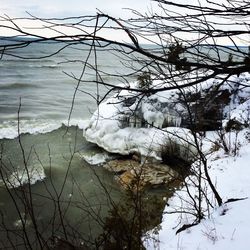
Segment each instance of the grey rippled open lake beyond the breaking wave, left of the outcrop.
[[[0,60],[0,138],[4,137],[1,136],[2,129],[11,128],[11,121],[16,121],[20,98],[20,117],[23,123],[31,122],[31,132],[32,127],[39,127],[39,123],[61,124],[67,120],[77,86],[77,80],[67,74],[80,77],[89,51],[87,46],[72,45],[46,58],[64,46],[65,44],[55,42],[36,43],[6,51],[3,55]],[[92,53],[89,62],[93,61]],[[100,71],[118,74],[126,71],[119,59],[108,51],[98,53],[97,64]],[[103,77],[105,81],[118,83],[117,79],[107,75]],[[89,68],[82,79],[87,82],[81,83],[79,89],[93,96],[97,93],[102,96],[107,90],[102,87],[97,90],[96,84],[90,82],[96,78],[95,72]],[[95,109],[94,98],[78,91],[72,119],[89,118]]]

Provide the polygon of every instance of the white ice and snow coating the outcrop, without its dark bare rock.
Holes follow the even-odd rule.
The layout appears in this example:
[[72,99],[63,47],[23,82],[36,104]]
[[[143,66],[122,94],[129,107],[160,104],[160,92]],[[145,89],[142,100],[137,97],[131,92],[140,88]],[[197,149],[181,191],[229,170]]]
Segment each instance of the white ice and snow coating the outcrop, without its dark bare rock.
[[[200,92],[201,97],[220,84],[223,79],[209,79],[195,87],[186,87],[183,92],[192,94]],[[183,80],[183,83],[187,83]],[[248,84],[249,74],[231,76],[220,86],[221,90],[230,93],[230,104],[224,109],[224,126],[230,119],[237,119],[243,123],[250,116],[250,102],[246,96],[250,95],[250,88],[241,88],[239,83]],[[153,86],[163,87],[159,81],[153,81]],[[249,85],[249,84],[248,84]],[[163,145],[169,141],[169,135],[177,135],[176,142],[184,147],[190,147],[193,139],[188,130],[179,127],[185,107],[178,101],[179,91],[161,91],[150,96],[129,90],[138,88],[138,83],[126,86],[122,90],[101,103],[91,120],[84,127],[83,135],[87,141],[97,144],[108,152],[119,154],[139,153],[143,156],[161,159],[160,152]],[[184,115],[185,116],[185,115]],[[166,123],[166,124],[165,124]],[[157,129],[164,127],[167,128]],[[183,139],[180,139],[181,136]],[[178,136],[180,135],[180,136]],[[188,137],[188,138],[187,138]],[[172,137],[173,139],[173,137]]]

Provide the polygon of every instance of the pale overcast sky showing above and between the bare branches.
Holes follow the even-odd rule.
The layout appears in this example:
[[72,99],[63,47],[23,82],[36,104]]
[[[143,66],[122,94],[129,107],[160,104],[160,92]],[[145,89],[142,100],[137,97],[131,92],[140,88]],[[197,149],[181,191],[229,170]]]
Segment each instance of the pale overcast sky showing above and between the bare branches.
[[[187,4],[207,4],[206,0],[173,0],[174,2],[181,2]],[[216,3],[224,3],[227,0],[213,0]],[[5,25],[7,22],[1,22],[2,17],[5,15],[11,18],[15,17],[28,17],[27,12],[40,18],[60,18],[60,17],[72,17],[80,15],[95,15],[97,9],[114,17],[129,18],[132,16],[131,11],[126,8],[135,9],[141,13],[149,12],[152,9],[155,11],[156,4],[151,0],[0,0],[0,25]],[[173,9],[173,11],[176,11]],[[189,12],[188,9],[185,12]],[[27,22],[16,21],[20,27],[33,27],[36,28],[39,25],[32,21]],[[26,23],[25,23],[26,22]],[[41,27],[41,24],[40,24]],[[227,25],[230,29],[233,25]],[[30,31],[30,30],[29,30]],[[42,30],[44,31],[44,29]],[[12,31],[11,31],[12,32]],[[13,35],[9,30],[0,27],[1,35]],[[34,29],[32,30],[34,32]],[[41,32],[41,29],[40,29]],[[47,36],[52,36],[51,30],[46,30]],[[107,35],[112,36],[112,39],[119,39],[126,41],[127,34],[125,32],[117,33],[106,32]],[[33,33],[34,34],[34,33]],[[43,34],[44,35],[44,34]],[[188,34],[185,34],[188,36]],[[114,38],[115,37],[115,38]],[[247,37],[247,41],[249,41]],[[191,38],[192,39],[192,38]],[[222,43],[230,44],[230,41],[222,40]],[[220,42],[220,43],[221,43]]]

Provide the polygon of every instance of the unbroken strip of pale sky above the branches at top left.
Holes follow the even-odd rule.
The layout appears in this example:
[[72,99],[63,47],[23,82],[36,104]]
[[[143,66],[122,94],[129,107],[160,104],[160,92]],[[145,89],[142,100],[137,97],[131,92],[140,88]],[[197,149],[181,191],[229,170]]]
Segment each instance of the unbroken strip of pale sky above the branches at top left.
[[116,17],[127,17],[132,8],[147,10],[150,0],[0,0],[0,15],[24,17],[26,12],[39,17],[68,17],[95,14],[100,9]]

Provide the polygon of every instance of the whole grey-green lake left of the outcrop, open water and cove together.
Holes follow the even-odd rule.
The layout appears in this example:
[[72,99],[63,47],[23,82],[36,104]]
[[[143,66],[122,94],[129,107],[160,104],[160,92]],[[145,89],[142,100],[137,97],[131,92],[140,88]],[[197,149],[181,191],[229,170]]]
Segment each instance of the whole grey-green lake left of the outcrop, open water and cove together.
[[[107,91],[92,82],[96,76],[91,69],[86,70],[85,82],[79,87],[91,95],[77,92],[67,126],[77,86],[77,81],[68,75],[80,77],[88,48],[72,45],[49,56],[62,46],[31,44],[6,51],[0,60],[1,249],[11,248],[11,243],[25,249],[24,242],[34,243],[36,227],[45,239],[51,235],[65,238],[66,231],[75,244],[94,242],[113,202],[126,200],[112,173],[82,159],[82,155],[102,154],[101,149],[83,138],[81,130],[97,107],[91,95],[103,96]],[[89,62],[94,62],[93,55]],[[99,53],[97,65],[100,71],[129,73],[109,51]],[[107,82],[120,83],[118,78],[102,77]],[[162,200],[168,190],[153,190],[145,199],[155,193]],[[153,217],[157,214],[157,223],[163,208],[164,204],[157,213],[152,212]],[[39,249],[36,243],[32,247]]]

